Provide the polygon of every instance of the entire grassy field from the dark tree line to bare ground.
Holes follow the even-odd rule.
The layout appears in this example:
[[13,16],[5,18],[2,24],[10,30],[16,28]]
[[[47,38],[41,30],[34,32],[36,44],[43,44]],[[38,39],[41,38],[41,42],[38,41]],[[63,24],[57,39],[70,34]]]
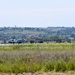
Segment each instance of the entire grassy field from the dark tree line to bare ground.
[[0,46],[0,72],[75,71],[74,43],[43,43]]

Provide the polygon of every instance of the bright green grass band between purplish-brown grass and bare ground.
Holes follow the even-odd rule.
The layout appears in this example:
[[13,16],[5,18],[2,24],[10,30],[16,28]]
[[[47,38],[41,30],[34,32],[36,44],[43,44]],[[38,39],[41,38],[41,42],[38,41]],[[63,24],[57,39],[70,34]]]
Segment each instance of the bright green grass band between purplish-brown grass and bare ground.
[[30,72],[35,73],[37,71],[55,71],[55,72],[65,72],[65,71],[75,71],[74,61],[53,61],[53,62],[5,62],[0,64],[0,72],[6,73],[23,73]]

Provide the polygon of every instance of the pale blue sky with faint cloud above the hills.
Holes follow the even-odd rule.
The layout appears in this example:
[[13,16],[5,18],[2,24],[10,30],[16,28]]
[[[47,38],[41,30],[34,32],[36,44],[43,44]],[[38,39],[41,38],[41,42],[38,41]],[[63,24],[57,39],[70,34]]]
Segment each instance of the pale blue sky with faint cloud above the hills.
[[75,0],[0,0],[0,27],[75,27]]

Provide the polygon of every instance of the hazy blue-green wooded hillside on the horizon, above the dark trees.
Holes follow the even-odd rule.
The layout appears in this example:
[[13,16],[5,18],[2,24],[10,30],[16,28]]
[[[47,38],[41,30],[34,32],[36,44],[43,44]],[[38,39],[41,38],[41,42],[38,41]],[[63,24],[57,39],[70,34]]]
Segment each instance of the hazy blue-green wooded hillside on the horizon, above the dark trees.
[[72,39],[75,40],[74,27],[0,27],[0,40],[9,39],[30,39],[37,36],[43,40],[53,40],[53,38]]

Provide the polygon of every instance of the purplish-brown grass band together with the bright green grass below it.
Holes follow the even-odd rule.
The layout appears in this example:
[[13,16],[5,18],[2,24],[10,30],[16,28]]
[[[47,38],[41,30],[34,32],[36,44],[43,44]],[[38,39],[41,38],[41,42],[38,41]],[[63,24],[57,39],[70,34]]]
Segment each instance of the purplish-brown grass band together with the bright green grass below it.
[[75,71],[75,51],[0,51],[0,72]]

